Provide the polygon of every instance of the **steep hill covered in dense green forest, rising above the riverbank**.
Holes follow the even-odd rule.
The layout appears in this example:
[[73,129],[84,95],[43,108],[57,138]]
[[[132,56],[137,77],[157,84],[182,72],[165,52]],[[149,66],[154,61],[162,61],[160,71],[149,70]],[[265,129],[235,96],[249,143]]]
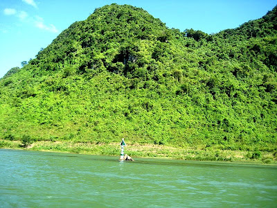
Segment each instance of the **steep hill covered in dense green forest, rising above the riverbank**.
[[0,80],[0,139],[276,151],[277,20],[214,35],[111,4]]

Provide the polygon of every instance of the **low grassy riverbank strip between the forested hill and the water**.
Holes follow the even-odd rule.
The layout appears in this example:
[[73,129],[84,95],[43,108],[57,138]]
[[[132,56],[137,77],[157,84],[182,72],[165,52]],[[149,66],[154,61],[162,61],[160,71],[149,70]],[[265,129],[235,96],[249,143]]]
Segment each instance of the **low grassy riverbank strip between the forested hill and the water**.
[[[0,148],[12,148],[21,150],[51,151],[62,153],[80,153],[88,155],[112,155],[120,154],[118,143],[80,143],[77,141],[35,141],[24,147],[21,141],[8,141],[0,139]],[[186,159],[201,161],[226,161],[226,162],[255,162],[263,164],[277,164],[277,153],[267,151],[246,150],[213,150],[202,146],[173,147],[154,144],[129,144],[125,153],[132,157],[162,157],[168,159]]]

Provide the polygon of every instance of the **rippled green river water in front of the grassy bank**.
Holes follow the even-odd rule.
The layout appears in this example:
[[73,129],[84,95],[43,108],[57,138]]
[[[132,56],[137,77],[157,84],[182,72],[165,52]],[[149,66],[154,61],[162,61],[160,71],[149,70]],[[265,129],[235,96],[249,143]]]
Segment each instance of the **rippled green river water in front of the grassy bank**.
[[276,166],[118,157],[0,149],[0,207],[277,207]]

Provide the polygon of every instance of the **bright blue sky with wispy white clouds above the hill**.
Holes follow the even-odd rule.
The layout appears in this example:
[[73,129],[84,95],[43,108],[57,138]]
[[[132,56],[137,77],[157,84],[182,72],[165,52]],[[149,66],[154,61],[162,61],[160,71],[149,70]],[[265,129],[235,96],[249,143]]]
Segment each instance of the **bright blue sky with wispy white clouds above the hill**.
[[169,28],[209,34],[258,19],[276,6],[276,0],[1,0],[0,78],[35,58],[74,21],[111,3],[143,8]]

